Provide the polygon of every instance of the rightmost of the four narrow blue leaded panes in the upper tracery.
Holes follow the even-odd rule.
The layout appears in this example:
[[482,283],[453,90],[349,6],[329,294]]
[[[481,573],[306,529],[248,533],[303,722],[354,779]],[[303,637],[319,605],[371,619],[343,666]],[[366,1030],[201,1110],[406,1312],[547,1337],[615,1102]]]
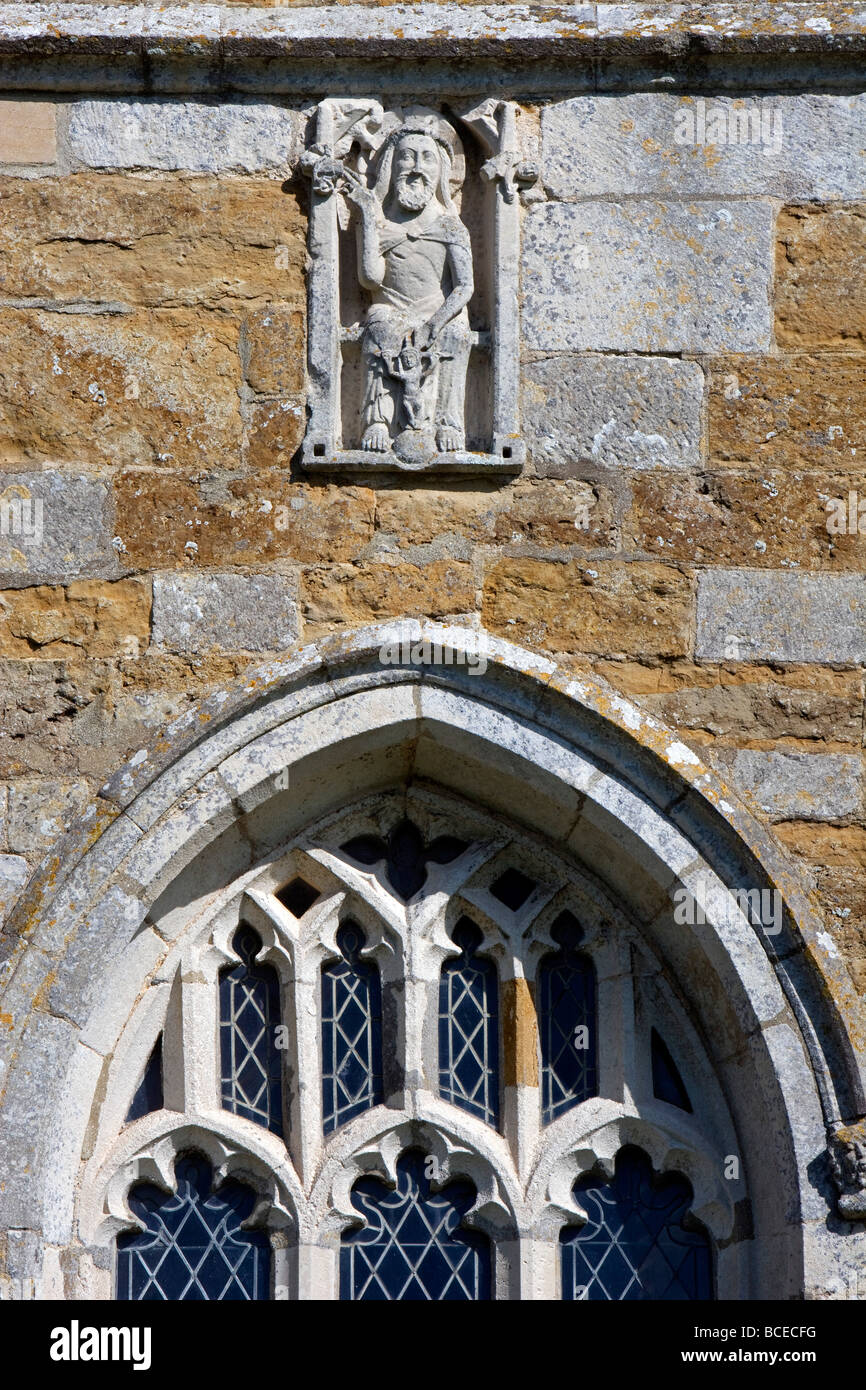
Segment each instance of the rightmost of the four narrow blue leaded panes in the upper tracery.
[[552,931],[562,947],[538,972],[542,1122],[598,1094],[595,969],[577,945],[581,931],[563,912]]

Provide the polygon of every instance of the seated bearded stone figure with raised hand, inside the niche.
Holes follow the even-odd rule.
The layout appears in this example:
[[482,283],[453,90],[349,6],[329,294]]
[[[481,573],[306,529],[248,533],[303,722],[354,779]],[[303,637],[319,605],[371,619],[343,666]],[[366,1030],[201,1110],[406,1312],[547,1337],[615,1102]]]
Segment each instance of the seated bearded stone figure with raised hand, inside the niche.
[[364,449],[420,457],[466,448],[473,295],[468,231],[452,200],[457,138],[441,117],[406,120],[384,142],[373,188],[346,170],[357,208],[364,320]]

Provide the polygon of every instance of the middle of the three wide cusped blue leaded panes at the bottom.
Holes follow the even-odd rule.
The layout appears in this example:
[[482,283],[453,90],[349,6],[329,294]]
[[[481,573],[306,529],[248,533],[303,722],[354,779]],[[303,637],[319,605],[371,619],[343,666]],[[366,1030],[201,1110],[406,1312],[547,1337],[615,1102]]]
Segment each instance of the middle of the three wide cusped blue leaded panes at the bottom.
[[352,1301],[481,1301],[491,1297],[491,1247],[460,1223],[475,1201],[467,1182],[439,1193],[424,1176],[428,1159],[409,1151],[398,1182],[361,1177],[352,1202],[366,1226],[343,1234],[341,1298]]

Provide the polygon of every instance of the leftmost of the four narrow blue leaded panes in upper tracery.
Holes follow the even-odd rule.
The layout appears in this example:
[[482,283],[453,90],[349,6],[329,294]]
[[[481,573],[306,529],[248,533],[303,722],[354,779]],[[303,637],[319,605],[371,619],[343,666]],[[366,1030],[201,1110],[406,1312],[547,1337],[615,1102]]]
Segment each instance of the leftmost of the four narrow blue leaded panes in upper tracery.
[[240,965],[220,973],[222,1108],[282,1134],[279,980],[254,963],[261,937],[252,927],[239,927],[232,949]]

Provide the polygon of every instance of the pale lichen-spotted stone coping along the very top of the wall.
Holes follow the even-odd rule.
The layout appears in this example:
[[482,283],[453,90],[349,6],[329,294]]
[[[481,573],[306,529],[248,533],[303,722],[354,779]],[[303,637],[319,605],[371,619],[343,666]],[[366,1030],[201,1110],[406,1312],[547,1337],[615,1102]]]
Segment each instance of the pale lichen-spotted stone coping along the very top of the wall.
[[0,54],[203,58],[646,58],[866,51],[866,3],[0,4]]

